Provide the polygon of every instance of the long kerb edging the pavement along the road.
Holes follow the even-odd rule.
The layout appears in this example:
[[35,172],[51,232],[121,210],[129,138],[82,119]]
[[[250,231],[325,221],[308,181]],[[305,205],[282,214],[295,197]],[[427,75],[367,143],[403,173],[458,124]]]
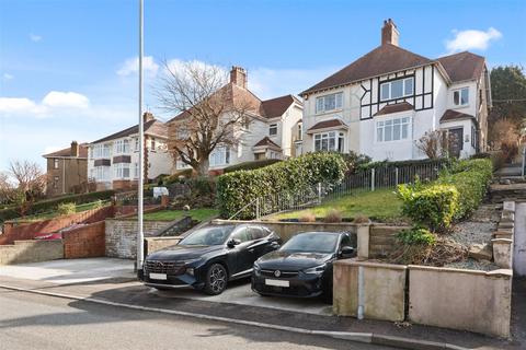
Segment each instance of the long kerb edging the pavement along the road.
[[[184,316],[184,317],[193,317],[193,318],[199,318],[199,319],[206,319],[206,320],[224,322],[224,323],[237,324],[237,325],[243,325],[243,326],[252,326],[252,327],[274,329],[274,330],[291,331],[291,332],[304,334],[304,335],[324,336],[324,337],[330,337],[330,338],[334,338],[334,339],[351,340],[351,341],[356,341],[356,342],[366,342],[366,343],[376,343],[376,345],[389,346],[388,342],[392,341],[392,345],[398,346],[398,347],[403,346],[403,345],[411,345],[412,347],[414,347],[415,345],[420,343],[420,345],[426,346],[426,347],[432,346],[433,348],[439,347],[442,349],[469,350],[467,348],[462,348],[462,347],[459,347],[459,346],[449,345],[449,343],[445,343],[445,342],[432,342],[432,341],[423,341],[423,340],[421,341],[421,340],[415,340],[415,339],[411,339],[411,338],[382,336],[382,335],[376,335],[376,334],[371,334],[371,332],[315,330],[315,329],[289,327],[289,326],[278,326],[278,325],[265,324],[265,323],[260,323],[260,322],[254,322],[254,320],[244,320],[244,319],[236,319],[236,318],[221,317],[221,316],[188,313],[188,312],[176,311],[176,310],[165,310],[165,308],[159,308],[159,307],[123,304],[123,303],[111,302],[111,301],[107,301],[107,300],[102,300],[102,299],[96,299],[96,298],[83,298],[83,296],[78,296],[78,295],[72,295],[72,294],[46,292],[46,291],[41,291],[41,290],[35,290],[35,289],[26,289],[26,288],[12,287],[12,285],[5,285],[5,284],[0,284],[0,288],[8,289],[8,290],[14,290],[14,291],[19,291],[19,292],[25,292],[25,293],[33,293],[33,294],[39,294],[39,295],[46,295],[46,296],[55,296],[55,298],[64,298],[64,299],[69,299],[69,300],[78,300],[78,301],[90,302],[90,303],[95,303],[95,304],[111,305],[111,306],[116,306],[116,307],[126,307],[126,308],[132,308],[132,310],[156,312],[156,313],[161,313],[161,314],[169,314],[169,315],[176,315],[176,316]],[[377,341],[377,340],[379,340],[379,341]]]

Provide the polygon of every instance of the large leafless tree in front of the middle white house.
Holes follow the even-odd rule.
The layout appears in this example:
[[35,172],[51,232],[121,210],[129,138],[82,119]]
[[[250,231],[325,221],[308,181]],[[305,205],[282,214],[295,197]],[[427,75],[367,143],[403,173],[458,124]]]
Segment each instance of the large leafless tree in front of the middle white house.
[[261,102],[244,88],[227,83],[227,73],[217,66],[163,66],[156,95],[161,108],[179,114],[169,124],[169,150],[175,161],[207,176],[210,153],[241,141]]

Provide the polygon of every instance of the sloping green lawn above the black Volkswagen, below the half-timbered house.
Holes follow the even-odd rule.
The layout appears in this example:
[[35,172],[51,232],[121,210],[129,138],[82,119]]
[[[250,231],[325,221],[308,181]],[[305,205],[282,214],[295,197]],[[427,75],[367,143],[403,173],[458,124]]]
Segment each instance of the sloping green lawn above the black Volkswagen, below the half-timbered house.
[[402,218],[401,205],[393,189],[378,189],[328,199],[321,206],[279,213],[273,215],[272,219],[299,219],[307,213],[312,213],[317,219],[322,219],[331,209],[336,209],[341,211],[344,219],[352,220],[357,214],[364,214],[374,221],[402,223],[407,220]]

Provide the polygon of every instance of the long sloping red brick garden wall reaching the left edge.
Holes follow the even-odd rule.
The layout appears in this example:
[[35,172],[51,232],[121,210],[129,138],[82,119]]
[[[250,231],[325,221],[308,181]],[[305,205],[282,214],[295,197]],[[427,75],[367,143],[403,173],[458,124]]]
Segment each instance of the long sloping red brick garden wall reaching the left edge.
[[33,240],[38,233],[53,233],[75,223],[93,223],[113,218],[114,207],[87,210],[83,212],[64,215],[37,222],[7,221],[3,223],[3,234],[0,235],[0,245],[12,244],[14,241]]

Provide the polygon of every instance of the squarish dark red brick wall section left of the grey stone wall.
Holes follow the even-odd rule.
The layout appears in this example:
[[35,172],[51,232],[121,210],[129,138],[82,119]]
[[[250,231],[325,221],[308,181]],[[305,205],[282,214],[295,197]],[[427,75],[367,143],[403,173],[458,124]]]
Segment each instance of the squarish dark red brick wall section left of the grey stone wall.
[[64,258],[91,258],[105,255],[105,222],[100,221],[62,234]]

